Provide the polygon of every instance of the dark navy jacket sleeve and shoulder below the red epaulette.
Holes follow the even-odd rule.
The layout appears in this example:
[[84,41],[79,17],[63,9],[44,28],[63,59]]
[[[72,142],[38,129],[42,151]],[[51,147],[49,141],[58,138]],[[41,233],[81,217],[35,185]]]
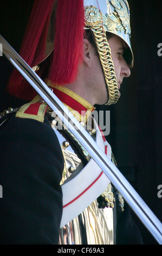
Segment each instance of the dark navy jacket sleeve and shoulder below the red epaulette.
[[63,156],[47,118],[12,115],[0,127],[0,244],[56,244]]

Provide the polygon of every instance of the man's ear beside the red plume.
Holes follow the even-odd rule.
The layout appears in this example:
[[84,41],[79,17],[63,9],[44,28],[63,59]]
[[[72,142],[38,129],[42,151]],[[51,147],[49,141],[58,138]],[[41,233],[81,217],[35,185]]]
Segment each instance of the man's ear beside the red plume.
[[88,39],[83,39],[83,62],[89,66],[92,62],[92,57],[94,54],[94,49]]

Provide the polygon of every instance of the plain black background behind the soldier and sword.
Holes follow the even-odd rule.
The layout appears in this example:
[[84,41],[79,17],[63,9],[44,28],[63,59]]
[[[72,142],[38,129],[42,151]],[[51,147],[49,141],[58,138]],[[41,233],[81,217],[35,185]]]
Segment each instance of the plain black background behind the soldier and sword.
[[[33,0],[1,1],[0,33],[19,51]],[[118,167],[137,190],[154,214],[162,221],[162,56],[157,47],[162,43],[161,0],[129,0],[131,9],[134,68],[131,77],[121,86],[121,97],[114,106],[99,107],[111,111],[111,132],[107,139],[112,146]],[[0,112],[21,106],[22,100],[6,90],[12,66],[0,57]],[[132,213],[144,242],[156,244],[152,235]]]

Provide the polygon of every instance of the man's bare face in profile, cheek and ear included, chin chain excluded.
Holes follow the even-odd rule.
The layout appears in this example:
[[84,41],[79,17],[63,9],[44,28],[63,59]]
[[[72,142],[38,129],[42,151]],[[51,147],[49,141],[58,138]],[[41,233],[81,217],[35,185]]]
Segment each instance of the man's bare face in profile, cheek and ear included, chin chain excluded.
[[[111,47],[118,88],[120,89],[123,78],[131,74],[123,57],[126,45],[124,41],[115,35],[108,42]],[[82,88],[86,92],[86,94],[84,93],[81,96],[86,97],[86,100],[92,105],[105,104],[107,102],[107,85],[105,83],[101,61],[94,47],[92,47],[87,39],[84,39],[83,65],[80,70],[81,72],[79,74],[82,74],[81,78],[83,81]],[[88,94],[89,90],[90,93]]]

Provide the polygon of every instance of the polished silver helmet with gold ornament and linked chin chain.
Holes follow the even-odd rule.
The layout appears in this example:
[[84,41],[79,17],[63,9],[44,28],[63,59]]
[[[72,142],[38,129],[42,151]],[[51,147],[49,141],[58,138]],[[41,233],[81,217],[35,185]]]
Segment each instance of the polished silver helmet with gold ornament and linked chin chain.
[[119,90],[107,32],[118,35],[126,42],[124,58],[129,68],[132,68],[133,52],[130,40],[129,5],[126,0],[85,0],[84,5],[85,29],[90,29],[93,33],[107,84],[108,101],[106,105],[112,105],[119,99]]

